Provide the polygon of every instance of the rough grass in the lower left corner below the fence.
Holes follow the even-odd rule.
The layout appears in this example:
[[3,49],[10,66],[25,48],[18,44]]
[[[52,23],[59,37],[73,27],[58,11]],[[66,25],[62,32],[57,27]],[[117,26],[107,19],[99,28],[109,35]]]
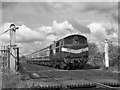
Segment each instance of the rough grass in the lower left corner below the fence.
[[3,60],[2,58],[0,58],[0,81],[1,81],[0,89],[17,88],[17,85],[20,83],[20,75],[10,71],[3,64],[4,64]]

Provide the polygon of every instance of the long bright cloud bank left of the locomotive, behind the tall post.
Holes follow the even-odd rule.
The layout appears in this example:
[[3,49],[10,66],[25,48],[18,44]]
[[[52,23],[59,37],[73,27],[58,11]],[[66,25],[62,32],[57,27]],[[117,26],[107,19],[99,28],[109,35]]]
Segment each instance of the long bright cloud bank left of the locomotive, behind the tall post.
[[[5,23],[0,27],[0,33],[9,29],[11,23]],[[54,41],[59,39],[66,34],[71,33],[73,30],[72,25],[68,21],[57,23],[53,21],[52,26],[41,26],[38,29],[30,29],[26,25],[18,26],[19,29],[16,31],[16,41],[18,43],[31,43],[36,41]],[[72,31],[73,32],[73,31]],[[2,35],[2,40],[9,43],[10,36],[9,32]]]

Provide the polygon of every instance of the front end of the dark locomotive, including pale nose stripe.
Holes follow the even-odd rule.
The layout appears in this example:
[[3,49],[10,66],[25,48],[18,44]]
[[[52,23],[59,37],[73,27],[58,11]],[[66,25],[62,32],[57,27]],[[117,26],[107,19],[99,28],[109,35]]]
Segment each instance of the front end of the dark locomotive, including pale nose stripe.
[[81,35],[69,36],[64,39],[61,51],[67,67],[81,68],[88,61],[87,38]]

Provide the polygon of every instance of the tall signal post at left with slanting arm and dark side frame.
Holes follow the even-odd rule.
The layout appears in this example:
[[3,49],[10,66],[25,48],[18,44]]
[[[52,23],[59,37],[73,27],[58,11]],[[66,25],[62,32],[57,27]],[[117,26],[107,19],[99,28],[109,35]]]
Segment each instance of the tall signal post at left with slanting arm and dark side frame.
[[[9,29],[0,34],[2,36],[3,34],[10,32],[10,45],[7,46],[8,57],[7,57],[7,63],[8,68],[10,68],[11,71],[16,72],[19,62],[19,48],[16,45],[16,30],[19,29],[19,27],[16,27],[15,24],[10,24]],[[17,54],[16,54],[17,53]]]

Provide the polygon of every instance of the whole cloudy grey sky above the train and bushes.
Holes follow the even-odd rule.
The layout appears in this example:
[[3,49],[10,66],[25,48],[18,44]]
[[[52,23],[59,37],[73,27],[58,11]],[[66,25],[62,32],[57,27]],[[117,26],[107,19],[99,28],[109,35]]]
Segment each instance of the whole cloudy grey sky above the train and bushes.
[[[21,54],[49,46],[70,34],[81,34],[102,47],[108,38],[118,42],[118,2],[20,2],[0,3],[0,34],[14,23],[16,43]],[[8,44],[9,32],[0,36],[0,44]]]

